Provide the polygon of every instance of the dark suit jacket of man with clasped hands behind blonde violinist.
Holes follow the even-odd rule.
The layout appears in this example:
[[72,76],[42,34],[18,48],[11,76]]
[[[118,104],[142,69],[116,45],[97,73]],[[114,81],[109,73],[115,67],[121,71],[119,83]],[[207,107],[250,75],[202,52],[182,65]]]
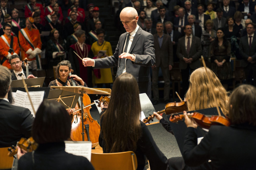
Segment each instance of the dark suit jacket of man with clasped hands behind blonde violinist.
[[180,69],[186,69],[187,63],[183,60],[185,58],[193,58],[193,61],[189,64],[191,69],[197,69],[201,66],[199,58],[202,55],[202,46],[201,46],[201,39],[193,36],[192,41],[190,40],[191,46],[189,55],[187,54],[186,46],[185,46],[185,36],[181,37],[178,41],[177,46],[177,57],[179,58],[179,67]]

